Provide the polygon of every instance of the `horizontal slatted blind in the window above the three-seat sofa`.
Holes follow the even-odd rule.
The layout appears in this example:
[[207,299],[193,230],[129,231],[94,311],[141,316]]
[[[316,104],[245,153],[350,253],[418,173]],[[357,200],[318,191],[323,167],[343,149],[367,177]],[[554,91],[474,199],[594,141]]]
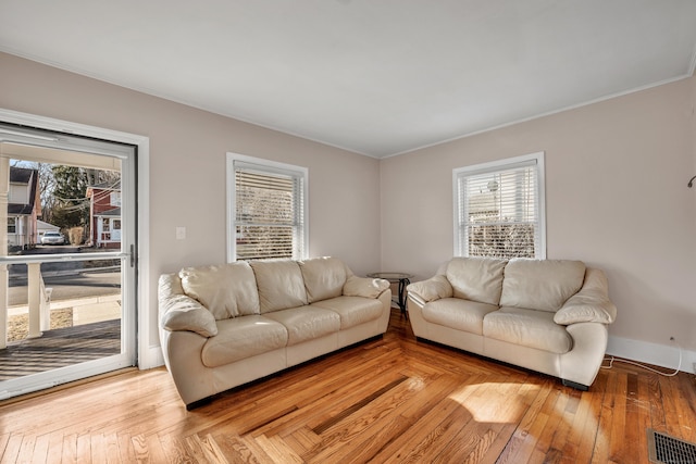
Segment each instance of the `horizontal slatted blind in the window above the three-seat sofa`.
[[302,173],[235,163],[237,260],[303,256]]

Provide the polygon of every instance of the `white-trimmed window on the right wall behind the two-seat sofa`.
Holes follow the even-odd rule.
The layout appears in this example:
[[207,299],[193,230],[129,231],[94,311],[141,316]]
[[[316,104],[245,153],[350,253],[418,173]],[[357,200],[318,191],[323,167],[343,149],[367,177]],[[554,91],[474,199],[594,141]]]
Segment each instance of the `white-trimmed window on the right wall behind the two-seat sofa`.
[[452,171],[455,255],[546,258],[544,153]]

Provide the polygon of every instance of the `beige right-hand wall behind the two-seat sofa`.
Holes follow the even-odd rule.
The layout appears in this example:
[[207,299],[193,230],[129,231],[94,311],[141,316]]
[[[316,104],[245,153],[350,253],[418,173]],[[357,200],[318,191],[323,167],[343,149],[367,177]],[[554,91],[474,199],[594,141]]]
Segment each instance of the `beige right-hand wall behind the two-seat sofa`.
[[383,267],[424,278],[451,256],[452,168],[545,151],[547,256],[608,273],[612,336],[695,350],[695,89],[684,79],[383,160]]

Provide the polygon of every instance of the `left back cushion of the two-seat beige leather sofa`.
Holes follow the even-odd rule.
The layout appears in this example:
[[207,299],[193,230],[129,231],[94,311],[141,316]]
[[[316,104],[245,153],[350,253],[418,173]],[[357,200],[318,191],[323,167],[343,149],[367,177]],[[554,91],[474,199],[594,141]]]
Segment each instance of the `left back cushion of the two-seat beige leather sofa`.
[[447,280],[455,298],[498,304],[502,291],[502,271],[507,261],[493,258],[452,258]]

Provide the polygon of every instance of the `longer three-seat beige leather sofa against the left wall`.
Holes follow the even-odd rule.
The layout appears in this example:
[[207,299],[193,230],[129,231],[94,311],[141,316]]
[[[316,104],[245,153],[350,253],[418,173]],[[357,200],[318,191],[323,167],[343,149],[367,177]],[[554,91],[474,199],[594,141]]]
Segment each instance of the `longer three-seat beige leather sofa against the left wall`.
[[164,361],[187,409],[380,336],[391,291],[334,258],[187,267],[159,281]]

